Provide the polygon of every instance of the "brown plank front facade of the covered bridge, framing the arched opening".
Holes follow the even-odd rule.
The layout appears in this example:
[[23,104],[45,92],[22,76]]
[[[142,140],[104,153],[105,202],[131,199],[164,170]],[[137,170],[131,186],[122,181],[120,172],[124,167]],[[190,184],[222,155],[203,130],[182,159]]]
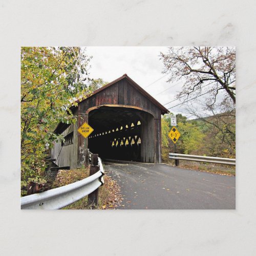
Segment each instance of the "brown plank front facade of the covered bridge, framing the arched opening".
[[[158,106],[134,88],[129,81],[122,79],[78,104],[78,127],[84,121],[88,122],[88,115],[84,115],[88,109],[104,104],[137,106],[151,114],[145,113],[145,122],[142,121],[141,161],[161,162],[161,110]],[[80,134],[77,134],[77,138],[77,164],[81,166],[84,162],[84,148],[88,147],[88,139],[84,139]]]

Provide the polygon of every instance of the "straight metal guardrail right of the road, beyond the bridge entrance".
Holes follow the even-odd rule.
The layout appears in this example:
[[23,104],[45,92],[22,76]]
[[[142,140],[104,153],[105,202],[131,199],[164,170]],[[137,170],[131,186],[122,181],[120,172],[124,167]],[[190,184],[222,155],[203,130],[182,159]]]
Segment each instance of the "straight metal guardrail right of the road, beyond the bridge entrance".
[[236,165],[236,159],[169,153],[170,159]]

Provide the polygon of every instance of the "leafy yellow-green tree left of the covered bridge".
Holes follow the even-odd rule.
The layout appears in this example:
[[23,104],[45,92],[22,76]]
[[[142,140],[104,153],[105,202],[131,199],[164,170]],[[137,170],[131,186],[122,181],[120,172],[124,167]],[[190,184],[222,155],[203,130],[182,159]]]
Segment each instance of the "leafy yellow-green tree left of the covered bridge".
[[21,177],[25,185],[42,177],[45,144],[62,139],[52,132],[57,123],[76,119],[72,100],[88,90],[90,57],[79,47],[21,49]]

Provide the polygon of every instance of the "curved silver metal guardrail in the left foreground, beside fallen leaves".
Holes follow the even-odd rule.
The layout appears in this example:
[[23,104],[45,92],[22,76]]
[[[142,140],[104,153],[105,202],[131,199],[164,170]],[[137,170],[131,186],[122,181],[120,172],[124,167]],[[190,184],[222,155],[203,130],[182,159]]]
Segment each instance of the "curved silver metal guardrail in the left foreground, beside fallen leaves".
[[98,158],[98,165],[99,171],[86,179],[42,193],[22,197],[21,208],[60,209],[91,194],[104,183],[104,169],[100,158]]

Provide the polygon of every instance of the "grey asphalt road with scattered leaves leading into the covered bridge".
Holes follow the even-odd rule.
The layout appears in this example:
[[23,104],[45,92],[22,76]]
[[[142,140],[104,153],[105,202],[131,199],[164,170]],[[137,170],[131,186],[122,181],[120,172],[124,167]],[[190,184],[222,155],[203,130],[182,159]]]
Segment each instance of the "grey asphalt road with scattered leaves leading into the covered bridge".
[[118,209],[235,209],[235,177],[166,164],[105,163],[124,198]]

